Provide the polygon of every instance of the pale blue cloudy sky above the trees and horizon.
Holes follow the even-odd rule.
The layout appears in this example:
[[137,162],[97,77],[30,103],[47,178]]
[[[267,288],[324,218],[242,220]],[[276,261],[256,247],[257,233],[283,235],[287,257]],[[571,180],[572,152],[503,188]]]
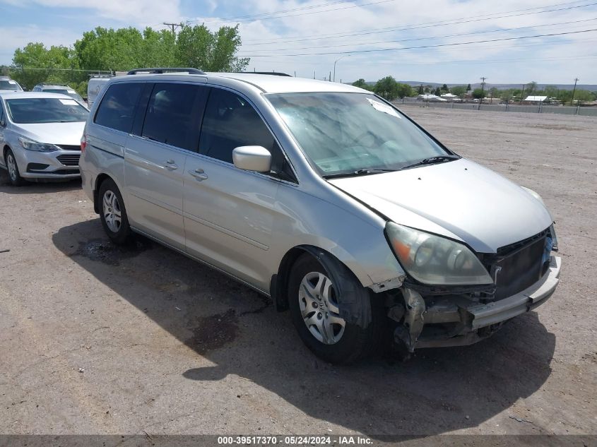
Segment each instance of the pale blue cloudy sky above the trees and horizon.
[[0,0],[0,64],[28,42],[72,46],[96,26],[163,22],[238,23],[247,71],[597,84],[597,0]]

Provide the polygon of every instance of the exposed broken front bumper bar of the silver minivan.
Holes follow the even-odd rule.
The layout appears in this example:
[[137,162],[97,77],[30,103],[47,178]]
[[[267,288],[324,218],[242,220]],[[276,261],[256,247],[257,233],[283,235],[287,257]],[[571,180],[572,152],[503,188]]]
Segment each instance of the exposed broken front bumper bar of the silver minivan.
[[560,258],[551,256],[543,277],[526,290],[482,304],[463,295],[423,298],[418,292],[402,290],[405,303],[403,324],[394,332],[394,340],[413,352],[421,347],[471,345],[487,338],[504,321],[543,304],[555,292],[560,281]]

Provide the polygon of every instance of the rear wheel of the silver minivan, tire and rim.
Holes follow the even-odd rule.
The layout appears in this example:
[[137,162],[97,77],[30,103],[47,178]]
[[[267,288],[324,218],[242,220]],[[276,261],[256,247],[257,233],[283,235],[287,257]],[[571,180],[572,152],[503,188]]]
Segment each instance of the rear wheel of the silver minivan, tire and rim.
[[97,193],[100,220],[104,231],[114,244],[123,245],[131,239],[131,227],[126,215],[124,201],[118,186],[112,179],[105,179]]

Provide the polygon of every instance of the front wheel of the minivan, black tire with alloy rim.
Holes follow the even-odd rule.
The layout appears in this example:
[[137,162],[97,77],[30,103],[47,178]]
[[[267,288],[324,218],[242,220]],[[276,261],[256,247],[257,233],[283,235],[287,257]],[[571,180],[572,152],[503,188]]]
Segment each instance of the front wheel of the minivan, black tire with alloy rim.
[[[370,292],[345,266],[335,259],[332,262],[337,264],[332,270],[343,271],[342,281],[351,284],[336,287],[332,278],[338,278],[338,274],[326,271],[316,258],[304,254],[290,271],[288,304],[292,323],[309,350],[326,362],[349,364],[377,352],[384,323],[383,309],[372,309]],[[357,291],[351,301],[358,302],[350,309],[363,309],[362,312],[371,316],[365,328],[362,323],[349,323],[340,316],[338,301],[342,302],[342,297],[336,297],[336,291],[342,288]],[[356,321],[365,319],[356,317]]]

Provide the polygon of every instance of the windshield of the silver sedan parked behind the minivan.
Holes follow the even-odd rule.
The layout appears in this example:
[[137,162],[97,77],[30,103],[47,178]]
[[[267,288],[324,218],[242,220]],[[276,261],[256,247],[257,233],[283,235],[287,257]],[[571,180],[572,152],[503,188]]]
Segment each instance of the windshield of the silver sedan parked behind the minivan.
[[65,123],[85,121],[89,114],[70,98],[30,97],[6,101],[11,120],[17,124]]

